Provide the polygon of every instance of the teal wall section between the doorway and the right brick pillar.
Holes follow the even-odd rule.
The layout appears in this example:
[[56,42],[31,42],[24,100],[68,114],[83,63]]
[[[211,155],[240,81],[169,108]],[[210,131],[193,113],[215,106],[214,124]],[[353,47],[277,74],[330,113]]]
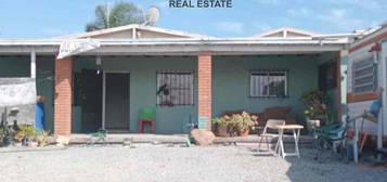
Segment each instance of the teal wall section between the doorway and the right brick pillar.
[[[120,56],[103,57],[105,72],[127,72],[130,74],[130,131],[137,132],[138,113],[141,107],[156,107],[156,70],[196,70],[194,56]],[[196,79],[195,79],[196,81]],[[196,82],[194,92],[197,92]],[[195,94],[194,103],[197,103]],[[197,115],[196,105],[156,107],[155,128],[157,133],[186,132],[186,123]]]

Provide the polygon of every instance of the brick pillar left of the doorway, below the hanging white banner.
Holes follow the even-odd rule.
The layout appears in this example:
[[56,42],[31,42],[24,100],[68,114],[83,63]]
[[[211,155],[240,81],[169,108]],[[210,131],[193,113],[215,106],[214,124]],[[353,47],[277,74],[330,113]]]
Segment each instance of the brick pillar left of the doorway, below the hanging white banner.
[[72,131],[73,58],[55,60],[54,134]]

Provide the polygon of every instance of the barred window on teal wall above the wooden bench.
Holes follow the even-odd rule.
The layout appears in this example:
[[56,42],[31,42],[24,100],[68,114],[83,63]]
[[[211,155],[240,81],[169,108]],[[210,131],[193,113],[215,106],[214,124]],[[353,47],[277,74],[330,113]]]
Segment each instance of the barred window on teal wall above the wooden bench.
[[257,70],[250,74],[250,96],[287,96],[286,70]]

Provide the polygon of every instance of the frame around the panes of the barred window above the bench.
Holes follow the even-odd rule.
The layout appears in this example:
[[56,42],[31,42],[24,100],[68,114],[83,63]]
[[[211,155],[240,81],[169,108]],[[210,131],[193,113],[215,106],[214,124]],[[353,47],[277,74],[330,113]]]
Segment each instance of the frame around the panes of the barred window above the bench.
[[[285,86],[284,86],[284,92],[285,94],[284,95],[271,95],[270,94],[270,87],[268,87],[268,93],[267,95],[254,95],[254,91],[253,91],[253,82],[251,82],[251,79],[253,79],[253,76],[255,74],[259,74],[259,73],[265,73],[267,74],[267,81],[269,82],[270,80],[270,74],[273,74],[273,73],[281,73],[281,74],[284,74],[284,81],[285,81]],[[256,98],[256,99],[287,99],[289,98],[289,92],[288,92],[288,76],[289,76],[289,70],[288,69],[253,69],[253,70],[249,70],[249,74],[248,74],[248,84],[249,84],[249,89],[248,89],[248,96],[249,98]],[[257,91],[256,91],[257,92]]]

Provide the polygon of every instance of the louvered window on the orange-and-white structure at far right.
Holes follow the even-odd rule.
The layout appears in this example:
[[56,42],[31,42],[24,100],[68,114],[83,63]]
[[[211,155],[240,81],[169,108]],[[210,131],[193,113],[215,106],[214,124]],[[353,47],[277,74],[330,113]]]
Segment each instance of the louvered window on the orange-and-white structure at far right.
[[373,92],[377,88],[377,66],[374,58],[369,57],[352,65],[353,93]]

